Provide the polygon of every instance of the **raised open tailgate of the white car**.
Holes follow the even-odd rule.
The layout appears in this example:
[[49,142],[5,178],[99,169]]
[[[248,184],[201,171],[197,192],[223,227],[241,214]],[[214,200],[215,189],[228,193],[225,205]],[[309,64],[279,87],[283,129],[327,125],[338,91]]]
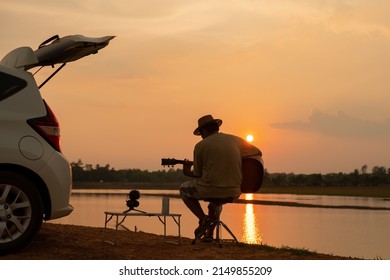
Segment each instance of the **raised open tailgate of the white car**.
[[97,53],[100,49],[106,47],[114,37],[91,38],[83,35],[69,35],[60,38],[58,35],[55,35],[42,42],[35,51],[30,47],[21,47],[11,51],[2,59],[1,63],[25,71],[34,67],[62,64],[39,86],[41,88],[66,63]]

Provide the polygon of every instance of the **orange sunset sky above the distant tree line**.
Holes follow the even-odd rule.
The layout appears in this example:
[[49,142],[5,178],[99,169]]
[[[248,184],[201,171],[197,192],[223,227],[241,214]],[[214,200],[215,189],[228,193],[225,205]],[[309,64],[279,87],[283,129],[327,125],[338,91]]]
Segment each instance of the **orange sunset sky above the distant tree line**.
[[371,171],[390,168],[389,14],[388,0],[2,1],[0,56],[117,36],[41,90],[70,161],[159,170],[192,159],[212,114],[252,134],[271,173]]

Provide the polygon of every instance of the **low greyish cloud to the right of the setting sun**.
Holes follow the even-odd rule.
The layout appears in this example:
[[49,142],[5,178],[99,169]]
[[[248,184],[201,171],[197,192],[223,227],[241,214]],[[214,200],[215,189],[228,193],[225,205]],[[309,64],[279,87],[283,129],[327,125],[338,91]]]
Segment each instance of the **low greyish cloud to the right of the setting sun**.
[[382,121],[364,120],[348,116],[343,112],[330,115],[313,110],[307,121],[291,121],[271,124],[279,129],[317,132],[320,134],[343,138],[390,138],[390,119]]

